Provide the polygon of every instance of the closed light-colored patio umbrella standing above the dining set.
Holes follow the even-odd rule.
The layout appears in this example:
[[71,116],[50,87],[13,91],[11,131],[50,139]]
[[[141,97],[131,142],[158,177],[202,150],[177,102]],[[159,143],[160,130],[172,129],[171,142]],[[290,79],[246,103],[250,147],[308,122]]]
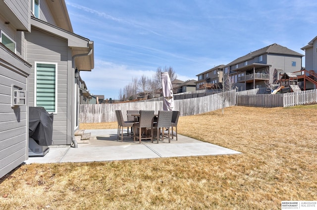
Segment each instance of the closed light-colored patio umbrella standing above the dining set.
[[163,91],[163,110],[174,110],[173,86],[167,72],[161,73]]

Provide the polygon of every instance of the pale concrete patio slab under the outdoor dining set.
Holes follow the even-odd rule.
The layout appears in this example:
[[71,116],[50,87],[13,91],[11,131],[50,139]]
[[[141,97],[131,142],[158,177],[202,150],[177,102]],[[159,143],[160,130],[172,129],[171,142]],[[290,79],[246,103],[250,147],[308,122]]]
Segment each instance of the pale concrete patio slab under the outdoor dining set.
[[78,148],[69,146],[50,146],[50,151],[44,157],[29,157],[26,164],[32,163],[66,163],[133,160],[147,158],[232,155],[240,152],[202,142],[178,134],[178,141],[133,141],[131,136],[125,136],[123,141],[117,139],[117,129],[85,130],[91,133],[87,144],[78,144]]

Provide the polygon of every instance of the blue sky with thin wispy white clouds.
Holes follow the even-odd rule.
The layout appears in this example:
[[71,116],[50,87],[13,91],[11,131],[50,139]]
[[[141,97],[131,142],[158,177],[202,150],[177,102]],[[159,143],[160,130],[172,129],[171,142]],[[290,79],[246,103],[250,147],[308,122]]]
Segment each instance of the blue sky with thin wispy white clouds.
[[[177,79],[273,43],[294,51],[317,36],[316,0],[65,0],[74,33],[94,41],[95,68],[81,72],[90,93],[120,88],[158,67]],[[305,57],[303,59],[305,66]]]

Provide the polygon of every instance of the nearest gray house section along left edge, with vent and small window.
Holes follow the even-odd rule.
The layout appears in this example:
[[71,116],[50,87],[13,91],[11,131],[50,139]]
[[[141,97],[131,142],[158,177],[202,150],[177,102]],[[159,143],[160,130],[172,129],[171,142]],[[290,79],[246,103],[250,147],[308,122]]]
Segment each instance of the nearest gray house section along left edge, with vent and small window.
[[0,0],[0,177],[28,159],[29,1]]

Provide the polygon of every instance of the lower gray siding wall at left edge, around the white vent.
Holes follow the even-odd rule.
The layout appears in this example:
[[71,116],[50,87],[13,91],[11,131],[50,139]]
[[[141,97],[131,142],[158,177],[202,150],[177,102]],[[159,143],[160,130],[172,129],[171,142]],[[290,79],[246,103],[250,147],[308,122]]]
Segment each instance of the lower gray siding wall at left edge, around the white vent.
[[11,85],[28,90],[24,63],[0,46],[0,177],[28,159],[28,106],[11,107]]

